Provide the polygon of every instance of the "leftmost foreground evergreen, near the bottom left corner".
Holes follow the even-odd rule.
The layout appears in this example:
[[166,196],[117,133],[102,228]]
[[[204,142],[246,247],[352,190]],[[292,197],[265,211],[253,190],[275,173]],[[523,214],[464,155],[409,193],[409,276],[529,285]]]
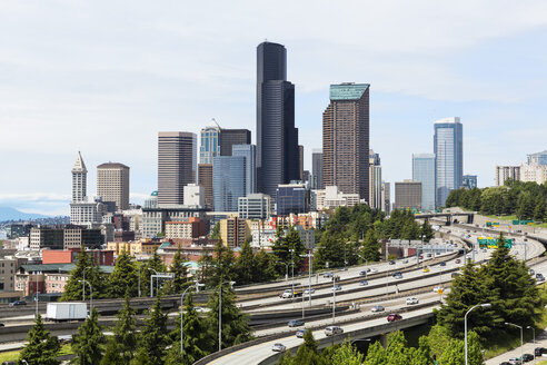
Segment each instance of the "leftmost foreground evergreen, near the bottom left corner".
[[58,365],[57,359],[61,348],[57,337],[52,337],[49,331],[43,325],[40,314],[36,317],[36,323],[30,328],[27,335],[27,345],[19,354],[19,363],[23,364],[23,359],[29,365]]

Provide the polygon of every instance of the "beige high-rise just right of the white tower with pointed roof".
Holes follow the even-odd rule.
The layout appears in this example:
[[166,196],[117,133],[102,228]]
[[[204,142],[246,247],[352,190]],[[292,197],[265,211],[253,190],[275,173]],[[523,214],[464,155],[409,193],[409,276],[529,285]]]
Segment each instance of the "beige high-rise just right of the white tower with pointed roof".
[[118,162],[97,166],[97,195],[108,211],[129,209],[129,167]]

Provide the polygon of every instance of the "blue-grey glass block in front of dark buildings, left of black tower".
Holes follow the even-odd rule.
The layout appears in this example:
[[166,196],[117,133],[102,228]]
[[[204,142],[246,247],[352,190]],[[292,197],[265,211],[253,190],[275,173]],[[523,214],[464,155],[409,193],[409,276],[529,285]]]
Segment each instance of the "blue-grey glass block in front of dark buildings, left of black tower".
[[245,197],[245,157],[217,156],[212,159],[212,200],[215,211],[237,211]]

